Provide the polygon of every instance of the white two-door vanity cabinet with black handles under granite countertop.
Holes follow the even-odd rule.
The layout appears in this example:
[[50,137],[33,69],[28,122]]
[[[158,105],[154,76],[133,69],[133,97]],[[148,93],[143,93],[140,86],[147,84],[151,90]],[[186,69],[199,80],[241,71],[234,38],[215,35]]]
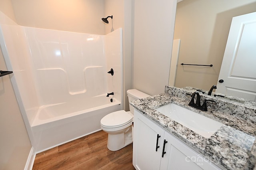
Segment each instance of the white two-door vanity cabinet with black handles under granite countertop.
[[137,109],[134,109],[132,164],[136,170],[220,169]]

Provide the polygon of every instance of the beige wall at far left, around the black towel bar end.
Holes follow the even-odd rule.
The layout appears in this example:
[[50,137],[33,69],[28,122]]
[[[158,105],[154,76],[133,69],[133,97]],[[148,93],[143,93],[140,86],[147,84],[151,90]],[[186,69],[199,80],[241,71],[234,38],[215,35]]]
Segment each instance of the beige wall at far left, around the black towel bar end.
[[[0,69],[6,70],[0,48]],[[0,169],[22,170],[31,149],[10,76],[0,77]]]

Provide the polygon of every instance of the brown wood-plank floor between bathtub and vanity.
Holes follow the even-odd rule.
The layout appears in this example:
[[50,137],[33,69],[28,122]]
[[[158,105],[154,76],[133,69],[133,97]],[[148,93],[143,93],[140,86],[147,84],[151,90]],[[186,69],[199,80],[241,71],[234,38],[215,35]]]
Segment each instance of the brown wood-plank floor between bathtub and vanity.
[[107,140],[101,130],[36,154],[33,170],[134,170],[132,144],[110,151]]

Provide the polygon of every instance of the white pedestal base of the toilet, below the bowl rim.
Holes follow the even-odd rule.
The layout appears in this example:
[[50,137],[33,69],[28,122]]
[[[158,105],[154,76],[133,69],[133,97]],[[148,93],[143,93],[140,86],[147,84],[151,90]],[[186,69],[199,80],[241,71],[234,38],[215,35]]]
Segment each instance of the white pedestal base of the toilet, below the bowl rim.
[[116,151],[132,143],[132,126],[127,127],[123,133],[116,131],[108,133],[108,149]]

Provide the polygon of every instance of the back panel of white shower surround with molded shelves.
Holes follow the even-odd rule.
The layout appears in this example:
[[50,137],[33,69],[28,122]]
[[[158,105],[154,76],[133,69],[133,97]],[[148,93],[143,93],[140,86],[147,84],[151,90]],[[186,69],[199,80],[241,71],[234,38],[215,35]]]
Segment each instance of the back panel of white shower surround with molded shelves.
[[104,36],[23,28],[40,105],[107,91]]

